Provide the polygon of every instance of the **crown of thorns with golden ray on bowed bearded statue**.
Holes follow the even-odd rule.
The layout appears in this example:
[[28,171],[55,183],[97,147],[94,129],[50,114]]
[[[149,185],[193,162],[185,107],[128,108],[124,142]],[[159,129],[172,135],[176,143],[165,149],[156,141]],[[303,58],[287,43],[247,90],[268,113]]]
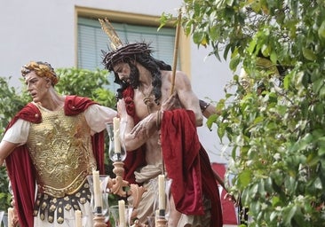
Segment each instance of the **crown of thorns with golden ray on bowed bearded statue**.
[[103,63],[109,71],[112,71],[113,67],[117,63],[122,62],[123,59],[132,58],[135,54],[139,53],[149,55],[152,52],[148,43],[122,43],[114,27],[107,19],[99,19],[99,22],[111,42],[111,49],[109,51],[102,51]]

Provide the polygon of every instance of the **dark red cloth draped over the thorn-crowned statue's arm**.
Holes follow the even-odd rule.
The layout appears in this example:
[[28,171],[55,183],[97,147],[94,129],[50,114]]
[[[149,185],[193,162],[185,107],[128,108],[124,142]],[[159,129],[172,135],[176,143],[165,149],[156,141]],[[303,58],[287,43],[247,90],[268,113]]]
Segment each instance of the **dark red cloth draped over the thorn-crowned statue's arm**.
[[[211,201],[211,227],[221,227],[222,210],[218,184],[202,147],[193,111],[164,111],[161,124],[163,160],[172,179],[171,193],[179,212],[203,215],[202,195]],[[212,220],[213,218],[213,220]]]

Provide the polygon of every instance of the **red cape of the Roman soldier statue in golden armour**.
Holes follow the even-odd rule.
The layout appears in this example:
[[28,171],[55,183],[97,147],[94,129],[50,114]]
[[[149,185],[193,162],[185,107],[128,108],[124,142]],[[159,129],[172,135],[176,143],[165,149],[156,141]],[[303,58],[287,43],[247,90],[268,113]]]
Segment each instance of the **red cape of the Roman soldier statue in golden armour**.
[[[82,113],[89,106],[96,104],[89,98],[67,96],[64,111],[67,116]],[[39,109],[29,103],[16,114],[9,123],[7,129],[12,127],[18,119],[41,123],[42,115]],[[97,160],[100,173],[104,173],[104,134],[95,134],[92,138],[92,148]],[[15,208],[19,215],[20,226],[33,227],[33,208],[35,202],[36,177],[35,168],[31,162],[26,145],[17,147],[6,159],[6,167],[12,184],[12,191],[15,198]]]

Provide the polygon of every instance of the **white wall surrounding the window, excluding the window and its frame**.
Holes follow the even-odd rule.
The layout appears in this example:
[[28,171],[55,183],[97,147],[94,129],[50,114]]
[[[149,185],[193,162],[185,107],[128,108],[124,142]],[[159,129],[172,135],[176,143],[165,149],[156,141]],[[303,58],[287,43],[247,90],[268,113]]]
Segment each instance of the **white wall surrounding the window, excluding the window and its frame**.
[[[48,61],[52,67],[75,67],[75,6],[160,16],[178,13],[180,0],[3,0],[0,3],[0,76],[12,76],[20,87],[20,68],[30,60]],[[107,15],[108,16],[108,15]],[[218,100],[231,73],[227,64],[209,57],[209,50],[192,45],[191,74],[199,98]],[[212,161],[222,161],[215,131],[199,129]]]

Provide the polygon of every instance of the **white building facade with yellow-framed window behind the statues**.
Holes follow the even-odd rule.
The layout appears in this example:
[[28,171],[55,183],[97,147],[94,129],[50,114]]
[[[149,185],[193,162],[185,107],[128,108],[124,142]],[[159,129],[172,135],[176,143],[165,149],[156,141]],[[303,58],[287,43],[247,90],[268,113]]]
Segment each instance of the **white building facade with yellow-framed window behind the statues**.
[[[157,28],[163,12],[176,17],[181,4],[180,0],[4,0],[0,3],[0,76],[11,77],[11,85],[19,88],[20,67],[30,60],[47,61],[55,68],[103,67],[99,52],[107,50],[109,42],[98,19],[105,17],[123,34],[124,42],[153,43],[157,58],[171,65],[175,27]],[[209,52],[181,34],[178,68],[188,74],[199,98],[218,101],[232,73],[226,62],[207,57]],[[225,163],[216,130],[206,126],[198,130],[210,159]]]

